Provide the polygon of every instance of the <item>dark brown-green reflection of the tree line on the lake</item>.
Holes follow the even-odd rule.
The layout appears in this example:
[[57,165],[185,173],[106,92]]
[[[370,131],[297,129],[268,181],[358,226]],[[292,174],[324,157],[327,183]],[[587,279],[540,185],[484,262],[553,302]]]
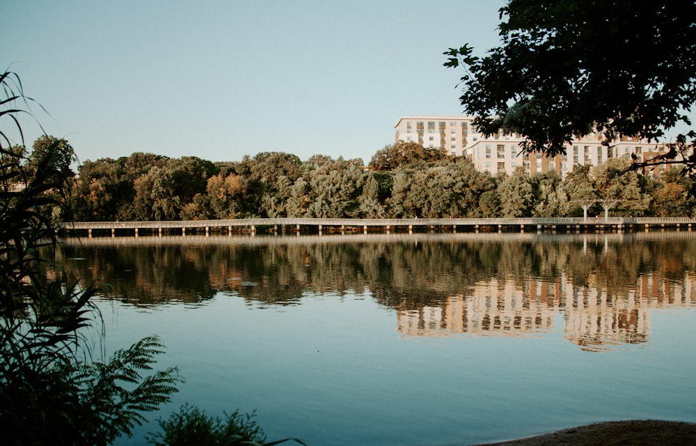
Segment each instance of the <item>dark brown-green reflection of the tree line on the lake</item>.
[[553,284],[560,277],[574,286],[625,296],[641,275],[659,272],[663,279],[683,282],[685,270],[696,270],[696,242],[689,236],[587,234],[564,243],[518,234],[494,239],[420,237],[399,243],[360,240],[102,247],[69,243],[63,256],[77,275],[102,277],[116,298],[136,305],[202,302],[218,292],[287,304],[308,293],[368,291],[381,305],[416,309],[467,295],[476,284],[492,279],[512,281],[524,290],[530,279]]

